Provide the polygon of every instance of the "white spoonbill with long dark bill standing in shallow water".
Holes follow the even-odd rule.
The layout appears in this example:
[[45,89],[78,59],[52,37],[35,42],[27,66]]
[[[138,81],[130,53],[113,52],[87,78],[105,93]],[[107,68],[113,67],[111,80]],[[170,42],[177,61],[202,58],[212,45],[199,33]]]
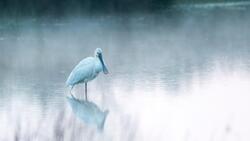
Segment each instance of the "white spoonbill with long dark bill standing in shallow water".
[[75,85],[85,83],[85,100],[87,99],[87,83],[96,78],[99,72],[108,74],[108,69],[102,57],[102,49],[95,50],[94,57],[87,57],[80,61],[70,73],[66,85],[71,86],[71,90]]

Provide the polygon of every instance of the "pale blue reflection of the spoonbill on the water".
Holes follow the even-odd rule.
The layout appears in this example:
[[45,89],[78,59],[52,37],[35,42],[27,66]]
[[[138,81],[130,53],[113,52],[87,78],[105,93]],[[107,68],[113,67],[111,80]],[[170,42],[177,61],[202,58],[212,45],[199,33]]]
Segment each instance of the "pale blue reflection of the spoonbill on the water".
[[86,100],[76,99],[74,96],[67,96],[75,115],[86,124],[94,124],[99,130],[103,130],[108,110],[102,111],[95,103]]

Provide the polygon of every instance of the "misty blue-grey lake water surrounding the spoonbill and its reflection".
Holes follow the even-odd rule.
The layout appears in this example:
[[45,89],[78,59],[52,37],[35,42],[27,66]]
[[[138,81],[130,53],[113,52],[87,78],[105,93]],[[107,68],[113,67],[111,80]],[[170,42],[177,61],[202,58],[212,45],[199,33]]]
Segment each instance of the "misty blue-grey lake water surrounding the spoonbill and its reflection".
[[[246,4],[247,5],[247,4]],[[0,21],[0,140],[250,140],[249,7]],[[103,49],[88,84],[104,130],[75,116],[65,81]],[[84,85],[73,93],[83,98]]]

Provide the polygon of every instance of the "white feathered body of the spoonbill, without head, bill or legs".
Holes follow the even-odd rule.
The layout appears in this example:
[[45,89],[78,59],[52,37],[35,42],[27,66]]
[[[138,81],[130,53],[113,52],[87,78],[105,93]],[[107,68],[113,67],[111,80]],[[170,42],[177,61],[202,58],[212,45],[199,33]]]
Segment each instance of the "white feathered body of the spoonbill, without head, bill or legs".
[[102,64],[97,57],[87,57],[79,62],[70,73],[66,84],[74,86],[78,83],[93,80],[102,71]]

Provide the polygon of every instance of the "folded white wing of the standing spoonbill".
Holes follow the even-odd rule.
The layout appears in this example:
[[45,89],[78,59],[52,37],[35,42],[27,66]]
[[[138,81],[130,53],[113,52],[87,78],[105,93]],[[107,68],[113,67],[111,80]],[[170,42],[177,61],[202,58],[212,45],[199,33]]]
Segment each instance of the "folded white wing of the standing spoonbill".
[[93,73],[95,65],[95,60],[92,57],[88,57],[83,59],[78,65],[70,73],[68,80],[66,82],[67,85],[75,85],[88,76],[91,76]]

